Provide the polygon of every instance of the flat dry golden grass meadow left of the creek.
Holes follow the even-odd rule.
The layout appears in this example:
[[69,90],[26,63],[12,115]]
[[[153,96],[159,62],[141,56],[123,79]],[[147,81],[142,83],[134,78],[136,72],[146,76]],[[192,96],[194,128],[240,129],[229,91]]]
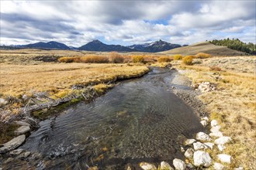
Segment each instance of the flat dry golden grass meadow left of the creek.
[[48,63],[0,66],[0,87],[4,96],[18,96],[38,91],[58,93],[70,89],[74,84],[108,82],[148,71],[147,66],[127,64]]

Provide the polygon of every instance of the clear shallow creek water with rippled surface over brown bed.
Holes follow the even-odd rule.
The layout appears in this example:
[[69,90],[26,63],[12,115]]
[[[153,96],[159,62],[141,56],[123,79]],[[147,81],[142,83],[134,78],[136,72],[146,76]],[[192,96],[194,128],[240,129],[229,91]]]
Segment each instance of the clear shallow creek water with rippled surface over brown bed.
[[[154,68],[126,80],[93,102],[67,108],[40,122],[22,145],[42,155],[38,169],[124,169],[129,163],[171,164],[182,158],[179,137],[202,131],[192,108],[171,92],[175,71]],[[38,162],[38,161],[37,161]]]

